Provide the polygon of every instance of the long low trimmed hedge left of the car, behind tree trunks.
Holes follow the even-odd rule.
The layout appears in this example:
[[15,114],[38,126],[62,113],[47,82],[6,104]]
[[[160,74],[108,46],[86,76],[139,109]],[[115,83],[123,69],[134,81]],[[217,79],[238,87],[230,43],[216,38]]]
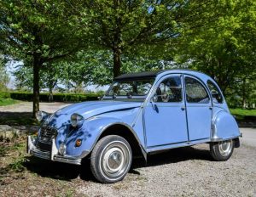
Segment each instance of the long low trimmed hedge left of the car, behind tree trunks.
[[[13,98],[17,100],[26,100],[32,101],[32,93],[26,92],[10,92],[10,93],[0,93],[0,97],[2,98]],[[98,97],[101,96],[97,93],[55,93],[53,95],[53,100],[58,102],[79,102],[79,101],[87,101],[87,100],[97,100]],[[40,101],[49,101],[49,93],[40,93],[39,97]]]

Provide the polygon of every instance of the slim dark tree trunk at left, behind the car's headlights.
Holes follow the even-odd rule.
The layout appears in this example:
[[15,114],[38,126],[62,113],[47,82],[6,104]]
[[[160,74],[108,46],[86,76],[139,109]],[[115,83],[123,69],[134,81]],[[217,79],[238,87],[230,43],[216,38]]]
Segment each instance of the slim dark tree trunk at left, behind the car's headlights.
[[33,117],[36,117],[36,113],[39,110],[39,70],[42,63],[38,54],[33,55]]

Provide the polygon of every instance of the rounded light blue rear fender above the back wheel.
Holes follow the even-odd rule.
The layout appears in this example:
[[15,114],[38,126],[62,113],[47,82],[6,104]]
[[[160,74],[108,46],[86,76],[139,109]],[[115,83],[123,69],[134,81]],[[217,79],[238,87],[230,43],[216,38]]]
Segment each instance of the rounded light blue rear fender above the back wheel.
[[211,141],[222,141],[241,136],[238,125],[233,115],[225,110],[220,110],[213,117]]

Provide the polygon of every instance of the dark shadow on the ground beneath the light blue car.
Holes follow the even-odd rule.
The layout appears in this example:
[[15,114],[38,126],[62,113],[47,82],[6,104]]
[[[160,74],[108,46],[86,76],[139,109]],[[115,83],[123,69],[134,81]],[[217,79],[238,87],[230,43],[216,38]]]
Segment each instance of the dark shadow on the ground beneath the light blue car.
[[[133,160],[129,173],[140,175],[140,172],[136,170],[137,168],[172,164],[184,160],[212,160],[212,157],[207,149],[195,149],[193,147],[171,149],[162,153],[148,155],[147,164],[143,159]],[[82,166],[76,166],[28,156],[23,166],[28,171],[37,173],[41,177],[66,181],[80,177],[84,181],[96,182],[95,177],[90,172],[90,160],[87,159],[82,162]]]

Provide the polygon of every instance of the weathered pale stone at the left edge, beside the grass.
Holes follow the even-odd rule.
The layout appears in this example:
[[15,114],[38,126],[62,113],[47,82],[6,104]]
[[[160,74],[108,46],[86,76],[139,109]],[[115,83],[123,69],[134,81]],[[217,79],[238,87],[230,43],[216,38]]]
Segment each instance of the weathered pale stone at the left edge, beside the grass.
[[19,138],[20,131],[18,129],[9,127],[8,125],[0,125],[0,141],[14,141]]

